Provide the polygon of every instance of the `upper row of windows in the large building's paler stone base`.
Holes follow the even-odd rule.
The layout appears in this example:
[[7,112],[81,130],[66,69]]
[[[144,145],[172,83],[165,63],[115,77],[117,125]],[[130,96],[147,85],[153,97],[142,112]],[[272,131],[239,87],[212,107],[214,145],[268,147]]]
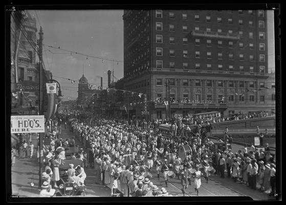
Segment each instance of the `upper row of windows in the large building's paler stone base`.
[[[170,86],[175,86],[175,79],[174,78],[169,78],[169,83]],[[178,81],[178,80],[177,80]],[[194,86],[196,87],[201,87],[203,86],[202,80],[200,79],[194,79]],[[206,79],[205,80],[205,86],[206,87],[213,87],[214,85],[214,81],[211,79]],[[216,87],[224,87],[224,81],[223,80],[216,80]],[[156,86],[163,86],[163,78],[156,78]],[[182,79],[182,86],[191,86],[190,83],[190,79]],[[228,88],[234,88],[235,87],[235,81],[234,80],[228,80],[227,82],[227,86]],[[243,80],[239,80],[237,81],[237,87],[238,88],[255,88],[255,81],[243,81]],[[265,87],[265,82],[259,82],[259,87],[258,88],[266,88]],[[272,89],[275,88],[275,82],[271,83],[271,87]]]

